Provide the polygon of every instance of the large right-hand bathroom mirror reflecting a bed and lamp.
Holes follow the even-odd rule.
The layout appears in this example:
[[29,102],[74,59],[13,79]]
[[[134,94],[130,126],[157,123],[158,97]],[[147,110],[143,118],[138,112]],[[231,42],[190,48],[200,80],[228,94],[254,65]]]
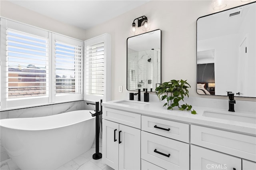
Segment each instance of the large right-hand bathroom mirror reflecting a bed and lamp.
[[256,2],[197,20],[197,93],[256,97]]

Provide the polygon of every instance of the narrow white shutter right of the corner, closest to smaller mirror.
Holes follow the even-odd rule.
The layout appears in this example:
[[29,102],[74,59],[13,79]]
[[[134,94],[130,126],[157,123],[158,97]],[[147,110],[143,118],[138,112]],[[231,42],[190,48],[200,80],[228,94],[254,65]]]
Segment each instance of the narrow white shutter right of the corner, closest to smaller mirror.
[[84,42],[84,99],[111,100],[111,36],[103,34]]

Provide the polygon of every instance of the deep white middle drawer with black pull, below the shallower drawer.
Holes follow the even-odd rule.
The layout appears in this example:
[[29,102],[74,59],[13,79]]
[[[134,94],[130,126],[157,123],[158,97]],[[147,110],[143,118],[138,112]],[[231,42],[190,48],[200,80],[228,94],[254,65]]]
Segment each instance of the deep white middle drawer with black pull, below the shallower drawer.
[[141,158],[168,170],[189,169],[189,144],[141,131]]

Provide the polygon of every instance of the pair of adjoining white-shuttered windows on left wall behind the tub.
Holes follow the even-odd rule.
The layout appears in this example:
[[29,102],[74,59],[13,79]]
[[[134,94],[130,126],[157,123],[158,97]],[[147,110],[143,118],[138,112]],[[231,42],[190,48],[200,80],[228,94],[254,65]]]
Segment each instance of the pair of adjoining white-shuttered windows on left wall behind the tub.
[[83,99],[84,42],[1,18],[1,109]]

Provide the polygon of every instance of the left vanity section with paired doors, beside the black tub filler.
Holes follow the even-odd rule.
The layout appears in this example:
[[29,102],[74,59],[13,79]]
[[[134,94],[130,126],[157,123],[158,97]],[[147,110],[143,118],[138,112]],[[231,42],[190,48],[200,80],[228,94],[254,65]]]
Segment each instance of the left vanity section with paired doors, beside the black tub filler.
[[[115,120],[119,119],[120,121],[106,120],[112,120],[111,116],[118,112],[119,110],[104,109],[104,119],[102,120],[102,162],[115,170],[140,169],[140,129],[119,123],[137,126],[135,119],[131,118],[134,113],[120,111],[122,115],[114,117]],[[129,119],[126,122],[127,117]]]

